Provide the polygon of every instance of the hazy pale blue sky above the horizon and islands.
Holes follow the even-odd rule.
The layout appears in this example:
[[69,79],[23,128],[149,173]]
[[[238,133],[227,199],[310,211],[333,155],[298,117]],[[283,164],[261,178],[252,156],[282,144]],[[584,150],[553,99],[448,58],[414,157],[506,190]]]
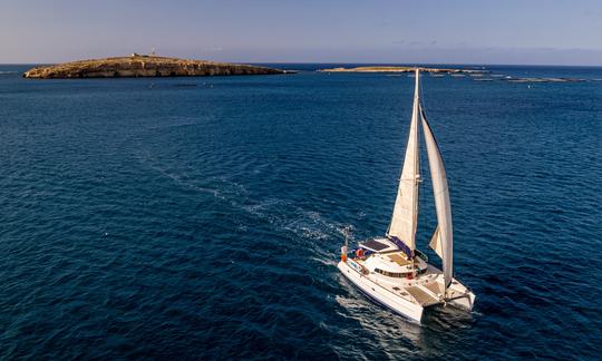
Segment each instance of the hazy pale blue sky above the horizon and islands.
[[152,48],[242,62],[602,66],[602,1],[0,2],[0,62]]

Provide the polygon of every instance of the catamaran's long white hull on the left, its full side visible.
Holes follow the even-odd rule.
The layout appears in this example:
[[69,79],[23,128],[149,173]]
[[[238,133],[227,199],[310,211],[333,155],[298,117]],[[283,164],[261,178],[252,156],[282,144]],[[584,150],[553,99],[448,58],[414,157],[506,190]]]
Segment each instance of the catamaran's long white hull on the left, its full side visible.
[[363,294],[366,294],[366,296],[371,299],[373,302],[394,311],[399,315],[409,319],[410,321],[420,323],[424,311],[423,306],[396,296],[390,291],[368,280],[358,271],[351,269],[346,262],[339,262],[337,267],[341,271],[346,279],[353,283]]

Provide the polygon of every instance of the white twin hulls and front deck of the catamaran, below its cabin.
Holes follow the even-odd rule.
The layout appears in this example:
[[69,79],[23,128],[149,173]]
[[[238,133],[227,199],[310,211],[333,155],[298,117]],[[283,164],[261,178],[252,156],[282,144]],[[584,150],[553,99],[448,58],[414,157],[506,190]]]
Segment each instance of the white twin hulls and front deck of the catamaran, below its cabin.
[[468,311],[473,309],[475,294],[457,280],[454,280],[455,284],[449,289],[448,297],[433,291],[433,285],[443,280],[443,274],[430,264],[424,275],[415,280],[396,280],[395,283],[371,272],[366,274],[357,271],[355,267],[361,270],[361,265],[358,265],[357,262],[348,260],[339,262],[337,267],[369,299],[410,321],[420,323],[425,308],[436,304],[449,304]]

